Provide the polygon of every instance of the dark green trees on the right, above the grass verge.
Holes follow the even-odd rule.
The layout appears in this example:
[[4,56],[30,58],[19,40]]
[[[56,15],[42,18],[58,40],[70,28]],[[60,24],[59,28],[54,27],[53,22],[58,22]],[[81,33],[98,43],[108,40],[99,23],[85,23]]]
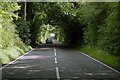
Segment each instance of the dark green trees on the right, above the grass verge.
[[83,6],[84,41],[111,54],[120,53],[118,3],[86,3]]

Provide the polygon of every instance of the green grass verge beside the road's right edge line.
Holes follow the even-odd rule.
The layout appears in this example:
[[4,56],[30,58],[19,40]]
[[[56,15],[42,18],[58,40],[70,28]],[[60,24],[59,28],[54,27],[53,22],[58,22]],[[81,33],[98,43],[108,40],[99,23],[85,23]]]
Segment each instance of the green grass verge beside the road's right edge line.
[[111,55],[93,46],[77,46],[76,49],[120,71],[120,56]]

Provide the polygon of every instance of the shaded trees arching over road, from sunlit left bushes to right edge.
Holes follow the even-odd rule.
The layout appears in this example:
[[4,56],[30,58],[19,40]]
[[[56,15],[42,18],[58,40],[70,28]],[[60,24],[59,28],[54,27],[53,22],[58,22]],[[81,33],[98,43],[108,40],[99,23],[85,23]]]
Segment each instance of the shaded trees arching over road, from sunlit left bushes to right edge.
[[26,9],[25,3],[19,5],[17,30],[26,44],[39,45],[55,33],[63,43],[99,46],[112,54],[120,52],[120,35],[116,35],[120,34],[120,3],[27,2]]

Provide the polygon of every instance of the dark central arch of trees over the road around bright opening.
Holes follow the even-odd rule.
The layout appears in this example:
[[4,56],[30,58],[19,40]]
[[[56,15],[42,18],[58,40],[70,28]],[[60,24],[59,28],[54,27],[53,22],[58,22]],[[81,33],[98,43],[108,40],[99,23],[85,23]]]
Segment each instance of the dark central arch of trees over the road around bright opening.
[[[22,12],[24,15],[24,3]],[[79,4],[78,4],[79,5]],[[34,3],[27,2],[26,21],[30,27],[28,31],[32,45],[44,42],[51,33],[58,41],[65,43],[82,43],[83,25],[80,17],[74,11],[75,3]],[[26,33],[25,33],[26,34]]]

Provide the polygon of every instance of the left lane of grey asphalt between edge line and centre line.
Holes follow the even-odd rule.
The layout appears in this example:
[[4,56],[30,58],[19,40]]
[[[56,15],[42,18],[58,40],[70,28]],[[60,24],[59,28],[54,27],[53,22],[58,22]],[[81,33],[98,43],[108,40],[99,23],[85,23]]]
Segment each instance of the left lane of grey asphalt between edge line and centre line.
[[[49,53],[46,51],[49,50]],[[36,48],[3,69],[4,78],[55,78],[52,48]],[[15,76],[16,74],[20,74]],[[51,75],[50,75],[51,74]],[[7,76],[6,76],[7,75]]]

